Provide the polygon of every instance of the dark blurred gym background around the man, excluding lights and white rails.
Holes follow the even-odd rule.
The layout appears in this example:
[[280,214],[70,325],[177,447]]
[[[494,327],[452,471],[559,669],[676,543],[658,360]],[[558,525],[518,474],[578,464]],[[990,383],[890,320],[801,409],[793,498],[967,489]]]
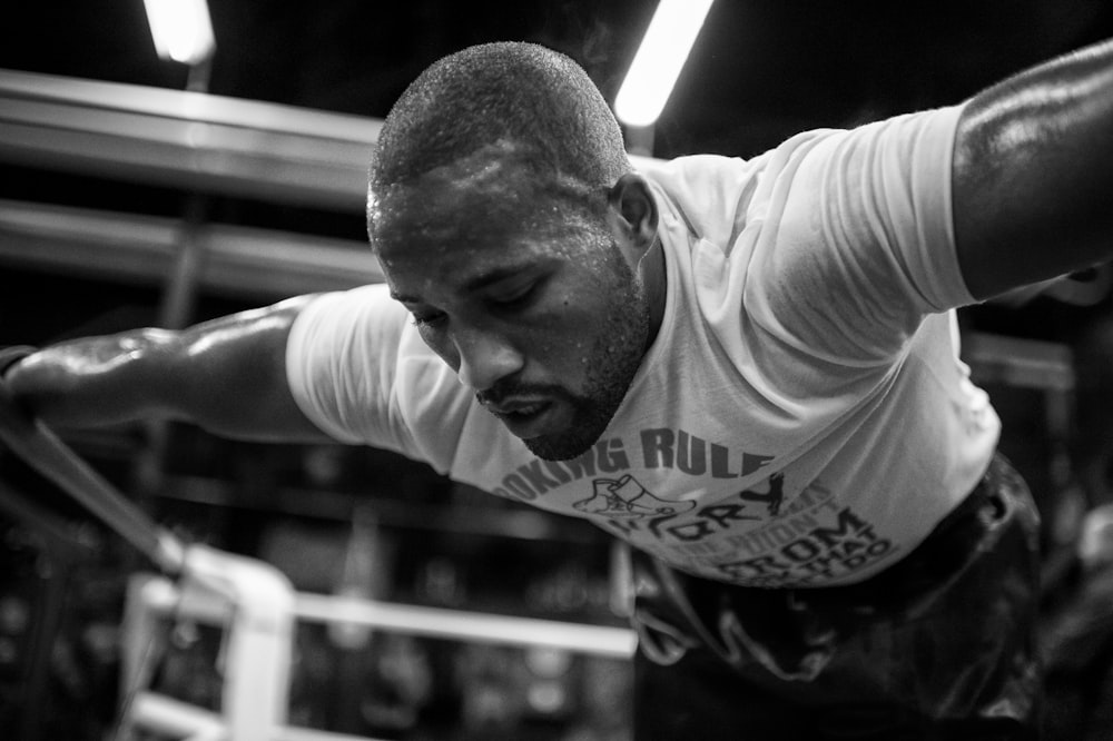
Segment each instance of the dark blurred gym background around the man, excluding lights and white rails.
[[[577,59],[613,101],[656,7],[221,0],[208,8],[215,49],[183,62],[157,52],[142,0],[10,4],[0,344],[183,326],[377,279],[363,179],[378,122],[424,67],[531,40]],[[1110,36],[1102,0],[719,0],[660,117],[628,129],[631,149],[748,157],[804,129],[957,102]],[[1101,547],[1081,546],[1110,498],[1110,280],[1099,267],[1043,288],[964,310],[966,354],[1044,510],[1052,730],[1109,738],[1113,602],[1101,556],[1083,559]],[[621,559],[602,532],[391,454],[178,425],[66,441],[152,520],[272,564],[299,592],[624,624]],[[16,729],[2,734],[111,738],[138,681],[120,659],[135,648],[129,583],[148,566],[2,451],[0,480],[0,729]],[[219,712],[220,631],[166,622],[145,686]],[[288,723],[335,738],[617,741],[629,691],[614,652],[307,620]]]

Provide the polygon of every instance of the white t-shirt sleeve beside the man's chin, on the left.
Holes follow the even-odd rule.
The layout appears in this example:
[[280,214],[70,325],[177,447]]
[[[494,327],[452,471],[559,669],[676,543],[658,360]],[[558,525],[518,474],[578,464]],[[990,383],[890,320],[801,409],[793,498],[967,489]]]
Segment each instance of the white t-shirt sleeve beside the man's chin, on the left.
[[425,461],[444,473],[470,398],[385,285],[323,294],[290,328],[286,377],[333,438]]

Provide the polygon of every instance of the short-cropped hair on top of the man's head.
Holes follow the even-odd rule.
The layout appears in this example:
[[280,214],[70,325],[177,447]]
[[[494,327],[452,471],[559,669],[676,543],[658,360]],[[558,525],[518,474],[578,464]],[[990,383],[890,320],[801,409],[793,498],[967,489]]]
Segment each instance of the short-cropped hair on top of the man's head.
[[371,168],[368,233],[393,186],[505,142],[541,179],[609,187],[630,170],[622,131],[579,65],[532,43],[470,47],[429,67],[391,109]]

